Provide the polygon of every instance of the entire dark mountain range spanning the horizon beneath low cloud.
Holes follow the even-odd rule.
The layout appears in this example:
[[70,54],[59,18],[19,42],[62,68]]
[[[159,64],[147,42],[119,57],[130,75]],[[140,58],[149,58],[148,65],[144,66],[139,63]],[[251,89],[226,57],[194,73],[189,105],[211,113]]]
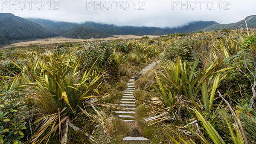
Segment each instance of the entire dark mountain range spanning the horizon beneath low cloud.
[[[256,15],[246,17],[246,21],[249,28],[256,27]],[[10,13],[0,13],[0,46],[10,44],[15,40],[35,40],[56,36],[67,38],[78,38],[79,36],[82,39],[90,39],[113,37],[113,35],[167,35],[244,27],[244,20],[230,24],[219,24],[215,21],[195,21],[174,28],[158,28],[116,26],[94,22],[78,24],[44,19],[24,19]]]

